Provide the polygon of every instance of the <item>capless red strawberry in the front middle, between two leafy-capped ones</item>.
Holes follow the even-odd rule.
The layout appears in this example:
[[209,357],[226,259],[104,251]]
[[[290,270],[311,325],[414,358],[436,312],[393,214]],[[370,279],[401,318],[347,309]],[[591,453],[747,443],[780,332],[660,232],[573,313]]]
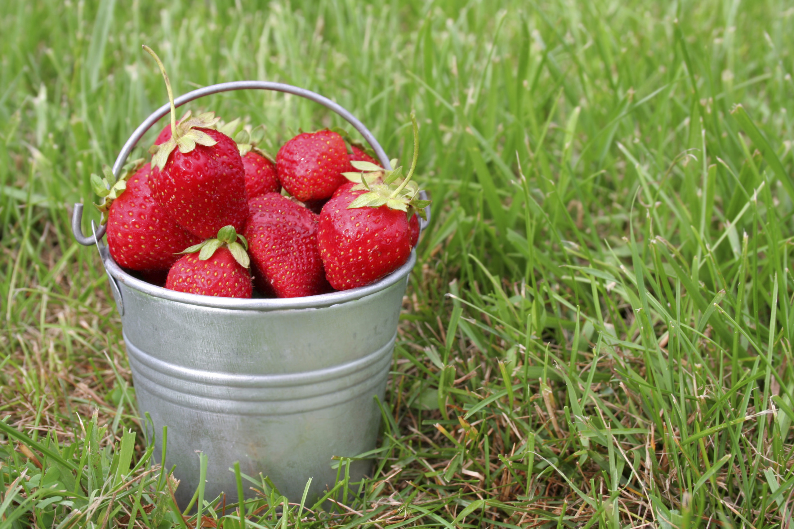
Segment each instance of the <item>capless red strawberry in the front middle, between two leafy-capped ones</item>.
[[276,297],[330,291],[317,247],[318,217],[278,193],[249,201],[245,227],[256,288]]

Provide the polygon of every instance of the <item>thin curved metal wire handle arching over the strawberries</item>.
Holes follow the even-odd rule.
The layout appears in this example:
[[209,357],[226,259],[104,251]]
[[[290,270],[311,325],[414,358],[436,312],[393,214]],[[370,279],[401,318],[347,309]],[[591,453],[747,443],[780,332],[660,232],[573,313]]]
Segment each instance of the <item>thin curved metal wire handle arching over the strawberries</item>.
[[[203,98],[206,95],[218,94],[220,92],[229,92],[231,90],[274,90],[276,92],[294,94],[323,105],[326,108],[333,110],[333,112],[339,114],[341,117],[345,118],[350,125],[353,125],[353,128],[355,128],[361,136],[364,136],[364,140],[367,140],[367,143],[370,145],[370,147],[372,147],[372,150],[375,151],[375,154],[380,160],[380,164],[387,170],[391,170],[391,163],[389,163],[389,157],[386,155],[384,148],[380,147],[378,140],[375,139],[375,136],[372,136],[372,132],[369,132],[368,128],[366,128],[363,123],[358,121],[358,119],[353,116],[352,113],[349,113],[349,111],[343,108],[341,105],[338,105],[336,102],[331,101],[325,96],[312,92],[311,90],[306,90],[305,88],[287,85],[283,82],[270,81],[221,82],[217,85],[204,86],[198,90],[193,90],[187,94],[180,95],[179,98],[175,99],[174,105],[179,107],[185,103],[193,101],[194,99]],[[169,112],[171,112],[171,105],[166,103],[159,109],[156,109],[149,117],[146,118],[143,123],[141,123],[141,125],[138,125],[138,128],[135,129],[133,135],[129,136],[129,140],[127,140],[127,142],[124,144],[124,147],[121,148],[121,152],[118,153],[118,158],[116,158],[116,161],[113,164],[113,174],[116,178],[121,175],[121,168],[124,167],[124,164],[129,157],[129,153],[133,151],[133,148],[135,148],[138,141],[141,140],[141,138],[148,131],[148,129],[152,127],[152,125],[154,125],[157,121],[160,121],[160,118],[164,117]],[[422,198],[426,198],[424,191],[421,192],[421,195]],[[424,230],[427,227],[427,224],[430,222],[430,206],[427,206],[425,211],[427,214],[427,220],[420,219],[419,224],[419,227],[422,230]],[[83,246],[98,244],[99,240],[102,240],[102,236],[105,235],[105,224],[102,224],[96,228],[96,231],[90,236],[84,236],[83,228],[81,227],[82,221],[83,205],[75,204],[75,209],[71,215],[71,232],[75,236],[75,240],[77,240],[78,243],[83,244]]]

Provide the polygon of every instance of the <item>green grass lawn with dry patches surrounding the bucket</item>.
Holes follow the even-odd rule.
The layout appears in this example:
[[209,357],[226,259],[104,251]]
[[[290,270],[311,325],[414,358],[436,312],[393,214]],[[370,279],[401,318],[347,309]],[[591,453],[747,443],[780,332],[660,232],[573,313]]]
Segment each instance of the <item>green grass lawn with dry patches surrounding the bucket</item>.
[[[400,159],[416,109],[434,198],[376,475],[331,510],[241,478],[257,498],[203,498],[203,527],[791,523],[786,2],[40,0],[0,3],[0,34],[2,529],[198,520],[149,466],[106,277],[68,228],[165,100],[141,44],[177,94],[305,86]],[[272,146],[341,125],[279,94],[200,105]]]

